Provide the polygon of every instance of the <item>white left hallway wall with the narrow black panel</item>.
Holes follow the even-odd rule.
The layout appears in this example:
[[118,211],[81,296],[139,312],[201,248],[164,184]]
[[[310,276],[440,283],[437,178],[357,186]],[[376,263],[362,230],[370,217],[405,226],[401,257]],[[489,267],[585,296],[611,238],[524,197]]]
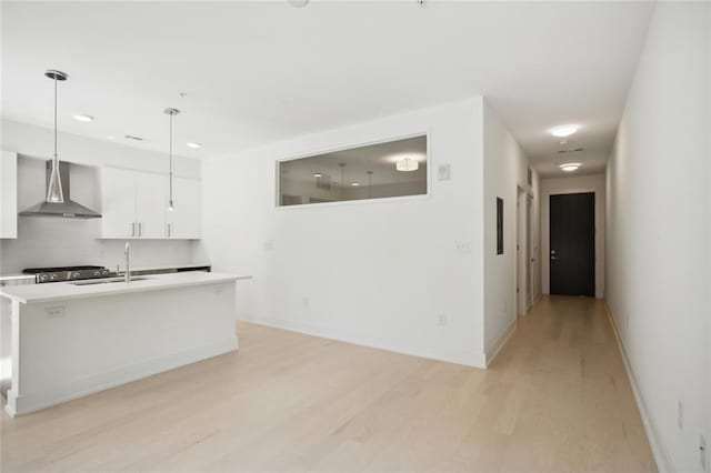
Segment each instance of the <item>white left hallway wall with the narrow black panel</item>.
[[[491,355],[517,319],[517,189],[528,189],[528,160],[505,124],[485,101],[483,140],[484,219],[480,230],[483,231],[484,241],[484,349]],[[497,254],[497,197],[503,199],[503,254]],[[537,205],[535,198],[533,209]],[[532,246],[538,245],[534,229]]]

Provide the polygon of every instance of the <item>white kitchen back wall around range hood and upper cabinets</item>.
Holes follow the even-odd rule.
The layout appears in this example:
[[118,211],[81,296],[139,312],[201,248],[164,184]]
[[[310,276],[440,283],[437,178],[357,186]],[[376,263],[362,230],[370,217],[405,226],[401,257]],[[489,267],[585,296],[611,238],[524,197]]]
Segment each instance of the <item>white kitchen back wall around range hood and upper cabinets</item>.
[[[91,209],[101,210],[99,179],[94,167],[111,165],[152,172],[164,172],[168,157],[113,142],[59,133],[62,161],[86,164],[71,169],[72,199]],[[52,154],[53,131],[40,127],[2,121],[3,150],[14,151],[18,158],[18,211],[44,199],[44,160]],[[176,174],[199,177],[200,162],[176,158]],[[123,242],[98,240],[97,219],[53,219],[20,217],[18,239],[0,240],[0,272],[13,273],[23,268],[103,264],[110,268],[123,261]],[[188,241],[131,242],[136,265],[183,263],[192,260]]]

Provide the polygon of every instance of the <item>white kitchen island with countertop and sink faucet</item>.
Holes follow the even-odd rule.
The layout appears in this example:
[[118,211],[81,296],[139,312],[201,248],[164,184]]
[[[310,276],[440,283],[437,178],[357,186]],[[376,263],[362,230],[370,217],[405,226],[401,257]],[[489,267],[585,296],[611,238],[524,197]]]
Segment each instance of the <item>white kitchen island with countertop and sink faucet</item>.
[[240,279],[249,276],[182,272],[1,288],[12,354],[6,411],[24,414],[237,350]]

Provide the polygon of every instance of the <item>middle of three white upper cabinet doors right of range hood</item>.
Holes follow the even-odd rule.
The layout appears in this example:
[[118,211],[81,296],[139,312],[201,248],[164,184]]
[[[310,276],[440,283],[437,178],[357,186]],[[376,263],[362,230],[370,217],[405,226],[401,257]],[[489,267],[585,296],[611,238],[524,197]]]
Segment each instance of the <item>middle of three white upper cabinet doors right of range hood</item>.
[[168,178],[162,174],[136,174],[136,222],[139,238],[166,238],[167,182]]

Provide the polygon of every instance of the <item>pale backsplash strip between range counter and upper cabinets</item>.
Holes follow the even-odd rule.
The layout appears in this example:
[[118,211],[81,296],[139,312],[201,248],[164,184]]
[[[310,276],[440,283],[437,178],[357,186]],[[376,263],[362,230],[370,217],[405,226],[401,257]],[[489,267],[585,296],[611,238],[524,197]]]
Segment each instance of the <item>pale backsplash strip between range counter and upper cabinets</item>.
[[[18,239],[0,240],[0,273],[23,268],[100,264],[123,265],[124,240],[99,240],[100,219],[20,217]],[[131,265],[186,263],[192,261],[187,240],[130,240]]]

